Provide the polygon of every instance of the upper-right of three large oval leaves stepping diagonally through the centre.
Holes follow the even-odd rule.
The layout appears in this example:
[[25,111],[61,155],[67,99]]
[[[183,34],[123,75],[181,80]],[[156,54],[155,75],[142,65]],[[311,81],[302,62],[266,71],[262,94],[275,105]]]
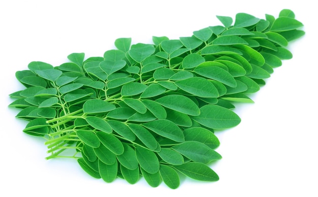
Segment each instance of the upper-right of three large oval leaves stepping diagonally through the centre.
[[218,91],[215,86],[207,79],[201,77],[192,77],[175,84],[182,90],[200,97],[218,97]]

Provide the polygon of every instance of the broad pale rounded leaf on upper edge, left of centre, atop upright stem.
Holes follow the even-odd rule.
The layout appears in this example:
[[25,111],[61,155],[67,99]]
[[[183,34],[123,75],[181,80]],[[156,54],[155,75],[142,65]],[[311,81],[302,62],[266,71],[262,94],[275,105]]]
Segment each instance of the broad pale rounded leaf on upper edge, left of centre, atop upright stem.
[[155,49],[149,44],[137,44],[133,45],[131,50],[129,50],[129,55],[138,63],[141,63],[146,57],[152,55]]

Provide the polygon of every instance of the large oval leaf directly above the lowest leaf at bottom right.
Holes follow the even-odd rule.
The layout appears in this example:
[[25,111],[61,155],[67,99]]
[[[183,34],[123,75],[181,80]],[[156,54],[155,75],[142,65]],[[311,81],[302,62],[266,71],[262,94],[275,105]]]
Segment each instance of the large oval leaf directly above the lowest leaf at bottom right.
[[209,163],[221,159],[221,155],[202,142],[185,141],[171,148],[195,162]]

